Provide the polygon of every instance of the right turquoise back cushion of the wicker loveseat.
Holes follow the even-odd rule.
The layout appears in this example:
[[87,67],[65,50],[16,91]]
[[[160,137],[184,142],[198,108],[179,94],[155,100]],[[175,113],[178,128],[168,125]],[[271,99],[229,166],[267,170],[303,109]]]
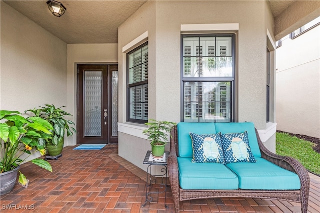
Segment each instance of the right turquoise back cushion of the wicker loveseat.
[[258,141],[255,134],[254,124],[251,122],[243,123],[215,123],[215,131],[225,133],[243,133],[247,131],[248,140],[252,155],[261,157]]

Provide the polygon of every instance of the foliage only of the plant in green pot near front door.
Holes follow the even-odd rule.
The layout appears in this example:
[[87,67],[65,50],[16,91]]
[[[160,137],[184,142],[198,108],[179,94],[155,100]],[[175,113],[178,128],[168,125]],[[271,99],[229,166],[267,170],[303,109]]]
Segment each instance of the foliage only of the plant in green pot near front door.
[[65,116],[72,115],[63,111],[61,109],[62,107],[64,106],[56,108],[53,104],[45,104],[45,107],[40,106],[38,109],[27,110],[28,112],[32,112],[35,116],[45,119],[53,126],[52,138],[47,138],[45,140],[46,143],[57,145],[64,137],[65,131],[66,136],[73,135],[73,132],[75,133],[75,129],[69,126],[74,125],[74,122],[65,119]]

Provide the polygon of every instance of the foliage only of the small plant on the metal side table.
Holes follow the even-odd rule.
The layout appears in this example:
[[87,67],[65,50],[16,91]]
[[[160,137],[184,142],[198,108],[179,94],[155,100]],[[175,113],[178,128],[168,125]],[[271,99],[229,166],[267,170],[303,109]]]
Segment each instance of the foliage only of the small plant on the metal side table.
[[176,125],[174,122],[169,121],[157,121],[149,119],[149,122],[144,123],[149,127],[142,131],[147,136],[147,140],[150,141],[151,145],[160,145],[167,142],[167,132],[170,131],[171,127]]

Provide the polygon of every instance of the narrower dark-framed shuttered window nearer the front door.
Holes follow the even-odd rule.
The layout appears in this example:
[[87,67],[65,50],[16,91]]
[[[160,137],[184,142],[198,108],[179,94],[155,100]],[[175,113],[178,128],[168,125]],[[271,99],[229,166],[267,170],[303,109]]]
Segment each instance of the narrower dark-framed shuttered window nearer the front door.
[[127,53],[127,121],[148,120],[148,45]]

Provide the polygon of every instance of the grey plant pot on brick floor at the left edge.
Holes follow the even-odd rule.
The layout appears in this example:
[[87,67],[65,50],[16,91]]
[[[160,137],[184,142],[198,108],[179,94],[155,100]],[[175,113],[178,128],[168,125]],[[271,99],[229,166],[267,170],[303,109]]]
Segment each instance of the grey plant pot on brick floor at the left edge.
[[19,168],[20,166],[11,171],[0,173],[0,195],[8,193],[14,188]]

